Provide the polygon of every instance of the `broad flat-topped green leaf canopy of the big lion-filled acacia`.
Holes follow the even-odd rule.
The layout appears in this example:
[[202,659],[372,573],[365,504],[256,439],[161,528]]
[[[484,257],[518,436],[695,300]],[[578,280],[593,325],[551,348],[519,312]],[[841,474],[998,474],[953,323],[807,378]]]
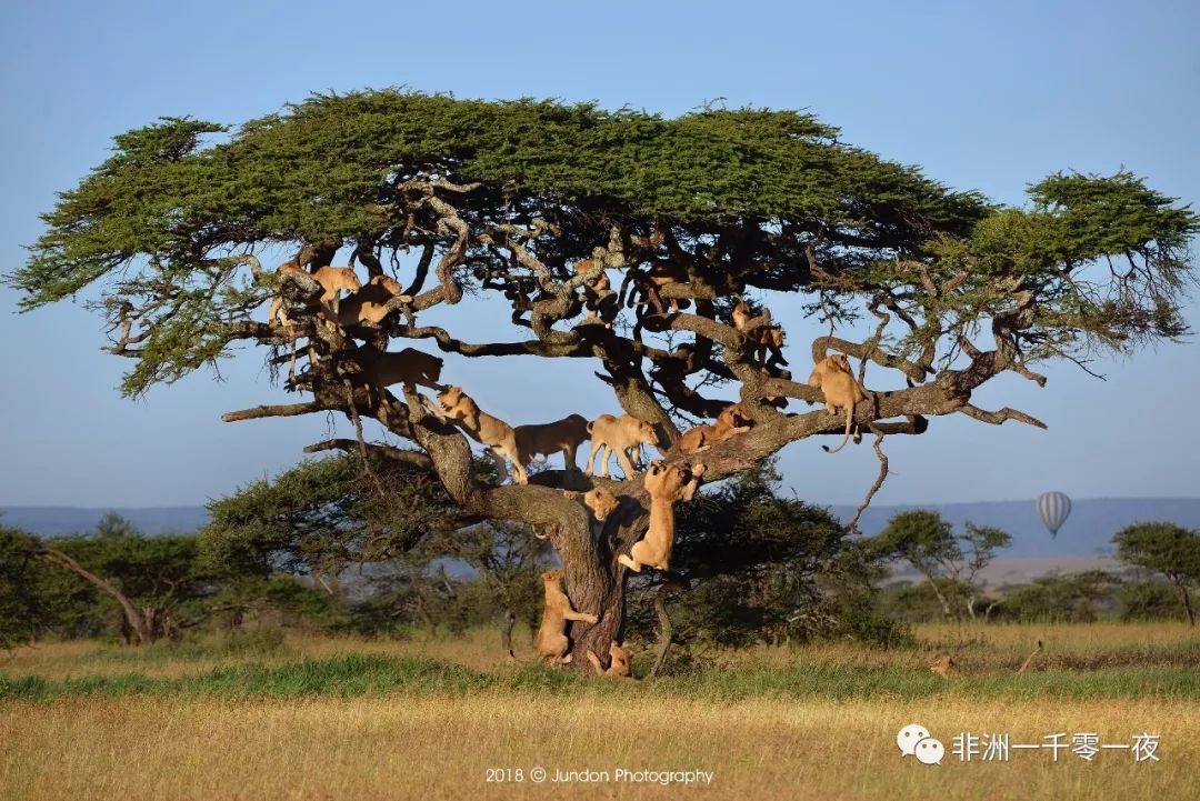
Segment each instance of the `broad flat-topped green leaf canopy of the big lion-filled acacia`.
[[[239,336],[228,324],[265,300],[270,288],[236,279],[232,255],[305,242],[403,247],[398,183],[438,176],[480,185],[455,199],[476,228],[552,221],[559,234],[542,242],[544,258],[559,267],[589,257],[612,222],[648,233],[668,221],[690,245],[737,240],[738,261],[760,265],[751,285],[804,290],[804,248],[818,231],[846,302],[886,289],[930,318],[906,335],[907,351],[1012,313],[1022,287],[1037,300],[1022,311],[1031,360],[1081,338],[1121,349],[1184,330],[1177,301],[1200,225],[1140,179],[1058,174],[1030,188],[1033,207],[1001,209],[838,135],[790,110],[666,119],[401,90],[317,95],[236,128],[163,118],[115,137],[113,156],[60,194],[8,282],[26,309],[96,282],[114,324],[139,309],[148,336],[122,385],[136,395],[226,355]],[[478,264],[496,258],[485,242],[470,249]],[[929,259],[940,281],[965,281],[929,296],[900,253]],[[1128,269],[1109,281],[1072,279],[1114,259]]]

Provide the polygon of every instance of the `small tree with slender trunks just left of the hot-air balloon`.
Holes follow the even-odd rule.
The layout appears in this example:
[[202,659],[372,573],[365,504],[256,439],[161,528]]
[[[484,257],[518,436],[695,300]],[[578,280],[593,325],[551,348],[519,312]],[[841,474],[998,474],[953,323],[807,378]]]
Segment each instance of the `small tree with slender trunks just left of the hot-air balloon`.
[[[952,612],[949,596],[938,584],[961,585],[966,590],[967,614],[971,620],[978,620],[976,604],[983,590],[976,578],[998,548],[1008,547],[1012,537],[1000,529],[971,522],[964,529],[962,534],[954,534],[953,526],[935,511],[900,512],[875,537],[875,546],[884,555],[905,560],[929,579],[947,618],[958,615]],[[991,608],[984,612],[985,619]]]

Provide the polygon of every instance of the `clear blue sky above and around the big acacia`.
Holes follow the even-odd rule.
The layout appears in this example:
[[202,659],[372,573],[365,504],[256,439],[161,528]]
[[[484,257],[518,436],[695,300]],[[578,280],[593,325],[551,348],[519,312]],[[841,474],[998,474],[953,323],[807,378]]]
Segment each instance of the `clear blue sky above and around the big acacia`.
[[[718,97],[805,108],[847,141],[1006,203],[1021,203],[1025,185],[1054,170],[1121,167],[1196,201],[1198,8],[5,4],[0,272],[23,261],[22,246],[41,230],[37,215],[106,157],[114,134],[160,115],[236,124],[311,91],[366,86],[595,100],[668,115]],[[287,468],[328,435],[323,416],[220,421],[230,409],[287,399],[257,354],[226,365],[224,383],[199,373],[133,402],[115,390],[127,363],[98,350],[98,318],[71,303],[22,315],[14,306],[0,288],[0,505],[198,504]],[[775,312],[792,342],[803,342],[806,329],[790,320],[790,307]],[[1198,312],[1193,301],[1193,325]],[[994,381],[979,405],[1024,409],[1050,430],[935,420],[926,435],[889,442],[893,476],[877,500],[1019,499],[1049,488],[1076,498],[1200,495],[1200,435],[1181,403],[1200,392],[1198,356],[1189,339],[1098,363],[1108,381],[1069,365],[1050,366],[1044,390],[1015,377]],[[589,371],[449,359],[446,375],[486,387],[476,392],[485,408],[517,423],[613,410]],[[826,504],[857,501],[876,471],[869,447],[827,456],[811,440],[790,446],[782,465],[802,498]]]

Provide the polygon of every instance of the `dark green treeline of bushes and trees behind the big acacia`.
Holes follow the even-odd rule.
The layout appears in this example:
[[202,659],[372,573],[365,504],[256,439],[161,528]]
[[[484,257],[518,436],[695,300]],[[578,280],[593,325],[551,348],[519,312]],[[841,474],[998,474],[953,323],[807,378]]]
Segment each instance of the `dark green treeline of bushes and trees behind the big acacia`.
[[[990,589],[980,571],[1009,537],[906,511],[875,537],[778,493],[772,465],[679,511],[673,571],[632,579],[625,637],[686,658],[692,646],[850,638],[907,642],[907,624],[966,620],[1194,621],[1200,535],[1145,523],[1114,542],[1128,570],[1046,576]],[[383,490],[380,490],[383,488]],[[118,514],[90,532],[38,538],[0,529],[0,645],[43,638],[128,644],[194,631],[300,628],[455,633],[541,615],[550,541],[474,524],[404,464],[355,456],[304,462],[214,501],[197,534],[145,536]],[[451,574],[446,560],[469,565]],[[888,583],[907,562],[924,578]]]

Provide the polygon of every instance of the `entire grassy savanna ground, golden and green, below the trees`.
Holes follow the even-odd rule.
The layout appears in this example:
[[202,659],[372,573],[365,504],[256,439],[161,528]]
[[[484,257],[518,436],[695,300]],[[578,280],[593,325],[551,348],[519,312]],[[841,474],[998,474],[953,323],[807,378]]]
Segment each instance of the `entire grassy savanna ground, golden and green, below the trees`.
[[[712,652],[678,675],[584,681],[498,658],[498,634],[270,636],[0,655],[0,799],[1195,797],[1200,638],[1183,625],[923,626],[918,645]],[[1042,639],[1030,673],[1013,673]],[[518,631],[518,642],[527,638]],[[952,651],[964,676],[929,673]],[[640,654],[635,671],[644,673]],[[941,766],[896,731],[941,739]],[[960,731],[1158,735],[1158,761],[1014,751],[962,763]],[[978,759],[978,758],[977,758]],[[712,783],[572,783],[556,770]],[[493,770],[493,769],[506,769]],[[521,770],[522,781],[516,781]],[[488,778],[504,778],[488,782]],[[1190,789],[1189,789],[1190,788]]]

